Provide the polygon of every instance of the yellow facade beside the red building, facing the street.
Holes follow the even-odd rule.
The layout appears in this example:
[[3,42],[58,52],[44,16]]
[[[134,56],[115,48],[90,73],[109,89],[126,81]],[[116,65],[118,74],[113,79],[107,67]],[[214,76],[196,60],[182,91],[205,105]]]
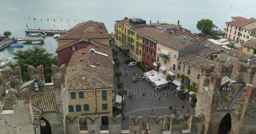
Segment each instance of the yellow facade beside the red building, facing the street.
[[129,47],[129,55],[136,62],[141,62],[142,35],[132,30],[129,23],[115,23],[115,45]]

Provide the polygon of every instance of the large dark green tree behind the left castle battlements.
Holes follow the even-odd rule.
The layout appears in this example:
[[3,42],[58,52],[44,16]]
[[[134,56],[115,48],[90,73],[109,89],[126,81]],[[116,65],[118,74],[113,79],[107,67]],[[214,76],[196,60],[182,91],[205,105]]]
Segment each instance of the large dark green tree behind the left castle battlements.
[[13,54],[13,59],[16,60],[16,63],[10,64],[10,67],[20,66],[22,73],[22,80],[25,82],[29,80],[29,75],[27,71],[27,66],[31,65],[33,67],[38,67],[43,65],[45,82],[51,82],[51,65],[59,64],[59,59],[53,54],[49,54],[46,49],[40,47],[33,47],[32,49],[27,50],[18,50]]

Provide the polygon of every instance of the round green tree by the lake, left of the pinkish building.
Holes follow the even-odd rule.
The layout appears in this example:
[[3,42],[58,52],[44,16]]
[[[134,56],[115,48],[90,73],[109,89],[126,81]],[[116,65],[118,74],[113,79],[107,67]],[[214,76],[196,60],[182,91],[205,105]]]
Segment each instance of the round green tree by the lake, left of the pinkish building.
[[197,29],[204,34],[211,33],[213,28],[213,21],[209,19],[202,19],[201,21],[197,21]]

